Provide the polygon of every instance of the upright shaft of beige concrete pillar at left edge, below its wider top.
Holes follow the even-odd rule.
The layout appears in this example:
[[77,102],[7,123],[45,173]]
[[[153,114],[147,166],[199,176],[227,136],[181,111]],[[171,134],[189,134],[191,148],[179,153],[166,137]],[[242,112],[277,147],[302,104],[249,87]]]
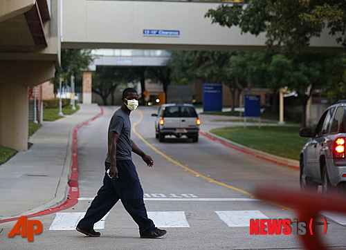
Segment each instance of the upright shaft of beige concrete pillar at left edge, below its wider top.
[[0,145],[28,149],[28,87],[0,85]]

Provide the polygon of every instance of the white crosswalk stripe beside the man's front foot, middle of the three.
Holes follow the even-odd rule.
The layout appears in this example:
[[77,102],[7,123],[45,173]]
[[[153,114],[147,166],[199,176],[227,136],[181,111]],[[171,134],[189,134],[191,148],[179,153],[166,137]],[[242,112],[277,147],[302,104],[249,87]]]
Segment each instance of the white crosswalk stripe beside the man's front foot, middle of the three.
[[190,227],[184,211],[147,212],[156,227]]

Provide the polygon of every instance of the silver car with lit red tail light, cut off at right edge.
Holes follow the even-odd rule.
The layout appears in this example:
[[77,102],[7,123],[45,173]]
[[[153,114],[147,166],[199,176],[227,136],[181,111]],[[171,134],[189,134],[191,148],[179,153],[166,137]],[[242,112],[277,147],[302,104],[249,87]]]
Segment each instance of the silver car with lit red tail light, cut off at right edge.
[[310,137],[300,152],[301,189],[322,185],[322,191],[346,193],[346,100],[329,106],[315,131],[301,128],[299,134]]

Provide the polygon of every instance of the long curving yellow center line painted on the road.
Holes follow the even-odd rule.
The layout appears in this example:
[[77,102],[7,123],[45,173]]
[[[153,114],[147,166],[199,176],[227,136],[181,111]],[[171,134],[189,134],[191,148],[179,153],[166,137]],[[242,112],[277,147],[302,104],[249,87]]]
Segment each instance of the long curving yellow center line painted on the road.
[[[152,148],[156,153],[158,153],[159,155],[161,155],[162,157],[166,158],[169,162],[172,162],[174,163],[176,166],[180,166],[182,169],[185,169],[185,171],[189,171],[190,173],[193,173],[194,175],[196,175],[197,177],[201,177],[205,180],[208,180],[209,182],[212,182],[212,183],[215,183],[215,184],[219,184],[221,186],[225,186],[227,187],[228,189],[233,189],[235,191],[238,191],[240,193],[244,193],[246,195],[249,195],[251,196],[251,198],[256,198],[256,195],[254,195],[253,193],[249,193],[248,191],[245,191],[245,190],[242,190],[242,189],[238,189],[237,187],[235,186],[230,186],[228,184],[225,184],[225,183],[222,183],[222,182],[219,182],[217,180],[214,180],[206,175],[202,175],[201,173],[197,172],[197,171],[194,171],[193,169],[190,169],[188,168],[187,166],[184,166],[183,164],[177,162],[176,160],[173,160],[171,157],[169,157],[168,155],[166,155],[165,153],[163,153],[162,151],[159,151],[158,148],[156,148],[154,145],[152,145],[150,142],[148,142],[147,140],[145,140],[145,138],[140,135],[138,133],[138,131],[136,130],[136,126],[142,121],[143,119],[143,113],[140,112],[140,110],[138,110],[138,113],[140,114],[140,119],[138,119],[138,121],[134,124],[133,126],[133,131],[134,133],[140,138],[140,140],[142,140],[145,144],[147,144],[147,146],[149,146],[150,148]],[[280,206],[282,209],[286,209],[286,210],[293,210],[287,206],[282,206],[280,204],[275,204],[273,202],[269,202],[271,204],[274,204],[275,206]]]

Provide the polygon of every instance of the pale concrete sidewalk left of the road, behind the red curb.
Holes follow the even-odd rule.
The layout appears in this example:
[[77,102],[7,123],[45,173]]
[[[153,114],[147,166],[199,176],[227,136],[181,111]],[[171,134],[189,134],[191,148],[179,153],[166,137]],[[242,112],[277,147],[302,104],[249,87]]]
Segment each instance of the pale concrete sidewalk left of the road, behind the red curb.
[[100,112],[97,104],[80,104],[73,115],[44,122],[30,137],[33,146],[0,166],[0,220],[36,213],[66,200],[73,130]]

